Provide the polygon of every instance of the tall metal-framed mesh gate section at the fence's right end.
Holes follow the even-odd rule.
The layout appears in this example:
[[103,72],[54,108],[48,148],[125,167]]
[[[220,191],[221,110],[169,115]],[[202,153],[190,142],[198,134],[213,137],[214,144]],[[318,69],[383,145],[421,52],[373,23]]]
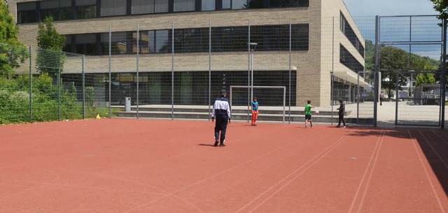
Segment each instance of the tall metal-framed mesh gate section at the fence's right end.
[[435,15],[377,16],[375,71],[381,78],[374,93],[384,92],[375,111],[379,123],[443,127],[442,24]]

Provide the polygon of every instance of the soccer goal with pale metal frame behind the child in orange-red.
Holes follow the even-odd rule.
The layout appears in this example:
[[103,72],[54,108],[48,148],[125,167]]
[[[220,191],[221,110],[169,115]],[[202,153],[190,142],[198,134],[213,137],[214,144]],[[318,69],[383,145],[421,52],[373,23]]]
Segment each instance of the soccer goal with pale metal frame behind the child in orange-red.
[[[250,121],[250,109],[249,104],[252,102],[253,97],[258,97],[262,100],[262,107],[269,106],[269,109],[282,109],[282,121],[285,123],[285,111],[286,111],[286,86],[261,86],[261,85],[231,85],[230,86],[230,107],[235,104],[236,106],[247,106],[247,122]],[[283,108],[281,108],[283,107]],[[266,109],[266,108],[265,108]],[[232,111],[234,111],[232,109]]]

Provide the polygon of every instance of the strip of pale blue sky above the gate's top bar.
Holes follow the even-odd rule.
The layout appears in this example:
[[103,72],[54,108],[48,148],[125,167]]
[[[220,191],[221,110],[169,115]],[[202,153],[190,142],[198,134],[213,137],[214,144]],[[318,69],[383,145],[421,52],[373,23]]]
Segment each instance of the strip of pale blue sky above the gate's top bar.
[[344,0],[352,17],[375,15],[437,15],[429,0]]

